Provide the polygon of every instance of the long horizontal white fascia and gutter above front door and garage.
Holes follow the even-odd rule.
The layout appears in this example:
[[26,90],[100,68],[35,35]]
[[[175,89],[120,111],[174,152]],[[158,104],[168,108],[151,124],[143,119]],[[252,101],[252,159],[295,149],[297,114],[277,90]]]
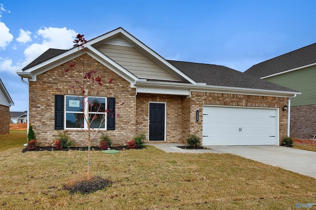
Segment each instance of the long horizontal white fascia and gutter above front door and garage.
[[296,95],[302,94],[299,92],[263,90],[263,89],[251,89],[251,88],[236,88],[236,87],[224,87],[224,86],[213,86],[213,85],[193,85],[193,84],[183,84],[183,83],[174,83],[174,82],[136,81],[135,86],[138,86],[138,85],[181,87],[181,88],[189,88],[191,91],[198,91],[198,92],[232,93],[232,94],[256,95],[256,96],[291,97],[295,94]]

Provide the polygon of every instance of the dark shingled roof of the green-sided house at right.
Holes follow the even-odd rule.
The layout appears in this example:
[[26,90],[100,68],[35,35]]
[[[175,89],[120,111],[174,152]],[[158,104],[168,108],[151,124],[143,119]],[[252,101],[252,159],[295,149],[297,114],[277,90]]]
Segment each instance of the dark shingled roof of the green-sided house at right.
[[244,71],[259,78],[316,65],[316,43],[256,64]]

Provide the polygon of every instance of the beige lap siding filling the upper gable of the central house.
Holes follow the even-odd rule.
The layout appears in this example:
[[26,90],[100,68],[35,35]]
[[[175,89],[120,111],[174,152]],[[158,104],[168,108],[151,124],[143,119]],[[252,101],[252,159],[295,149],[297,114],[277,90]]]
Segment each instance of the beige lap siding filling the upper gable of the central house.
[[101,44],[96,48],[139,78],[180,81],[135,47]]

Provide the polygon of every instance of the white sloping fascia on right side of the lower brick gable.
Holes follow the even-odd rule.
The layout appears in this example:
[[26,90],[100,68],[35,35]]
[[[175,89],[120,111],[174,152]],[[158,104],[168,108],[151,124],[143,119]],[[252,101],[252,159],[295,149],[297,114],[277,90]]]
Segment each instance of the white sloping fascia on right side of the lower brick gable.
[[109,68],[110,70],[113,70],[115,73],[117,73],[119,76],[123,77],[127,81],[135,82],[135,80],[139,80],[137,76],[135,76],[130,71],[120,66],[118,63],[116,63],[111,58],[101,53],[99,50],[95,49],[94,47],[88,46],[86,47],[86,49],[91,51],[91,53],[87,52],[88,55],[93,57],[95,60],[97,60],[98,62],[100,62],[107,68]]

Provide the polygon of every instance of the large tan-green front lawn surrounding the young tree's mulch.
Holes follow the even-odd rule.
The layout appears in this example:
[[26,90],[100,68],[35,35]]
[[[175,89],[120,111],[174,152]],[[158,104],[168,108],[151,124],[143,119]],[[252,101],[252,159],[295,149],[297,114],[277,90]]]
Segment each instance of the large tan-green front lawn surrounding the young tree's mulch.
[[87,168],[86,151],[0,151],[1,209],[296,209],[316,203],[316,179],[231,154],[155,147],[92,151],[94,175],[113,181],[88,195],[63,184]]

